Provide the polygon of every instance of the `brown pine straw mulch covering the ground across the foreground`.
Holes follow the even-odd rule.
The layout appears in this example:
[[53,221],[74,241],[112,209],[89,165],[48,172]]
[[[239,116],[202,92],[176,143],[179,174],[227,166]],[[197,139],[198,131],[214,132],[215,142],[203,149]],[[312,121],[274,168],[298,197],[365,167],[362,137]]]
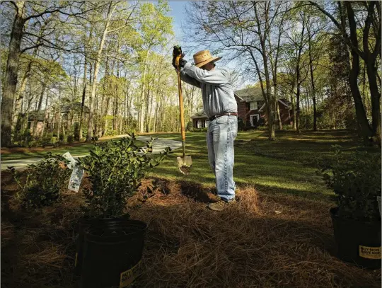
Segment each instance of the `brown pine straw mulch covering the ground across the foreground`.
[[[76,287],[81,194],[25,212],[13,200],[14,183],[1,175],[1,287]],[[129,204],[132,218],[149,224],[138,287],[381,287],[381,270],[333,256],[328,203],[259,195],[248,186],[236,205],[212,212],[213,191],[155,182],[154,193],[146,193],[146,180]]]

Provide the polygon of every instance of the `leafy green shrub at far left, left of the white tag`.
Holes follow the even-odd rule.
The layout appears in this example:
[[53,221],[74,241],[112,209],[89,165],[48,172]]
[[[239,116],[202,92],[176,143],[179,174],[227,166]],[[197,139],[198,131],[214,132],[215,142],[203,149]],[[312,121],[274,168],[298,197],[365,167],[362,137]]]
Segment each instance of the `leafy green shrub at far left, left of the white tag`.
[[21,172],[14,167],[8,167],[18,184],[16,197],[26,208],[50,206],[61,200],[61,190],[71,175],[67,168],[69,161],[59,154],[48,153],[44,159],[28,165],[25,182],[21,179]]

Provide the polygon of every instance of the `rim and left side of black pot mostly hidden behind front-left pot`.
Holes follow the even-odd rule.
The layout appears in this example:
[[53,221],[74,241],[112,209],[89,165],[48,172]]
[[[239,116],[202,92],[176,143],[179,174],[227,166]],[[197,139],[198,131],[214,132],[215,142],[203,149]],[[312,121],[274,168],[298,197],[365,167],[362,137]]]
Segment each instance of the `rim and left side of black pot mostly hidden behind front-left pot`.
[[121,218],[81,218],[76,226],[76,256],[74,260],[74,274],[81,275],[82,259],[83,259],[83,246],[85,243],[85,231],[89,226],[99,225],[115,225],[122,221],[129,221],[129,215]]

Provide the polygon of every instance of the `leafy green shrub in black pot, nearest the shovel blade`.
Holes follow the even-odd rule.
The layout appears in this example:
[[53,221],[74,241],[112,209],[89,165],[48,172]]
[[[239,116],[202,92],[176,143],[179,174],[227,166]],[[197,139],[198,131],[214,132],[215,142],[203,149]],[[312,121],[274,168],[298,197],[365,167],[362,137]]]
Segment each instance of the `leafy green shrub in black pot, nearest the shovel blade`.
[[91,188],[83,190],[88,217],[121,217],[126,214],[129,197],[134,195],[146,173],[158,166],[166,157],[170,148],[163,154],[152,158],[152,143],[146,143],[143,149],[134,144],[131,138],[95,144],[90,155],[79,159],[79,163],[88,174]]

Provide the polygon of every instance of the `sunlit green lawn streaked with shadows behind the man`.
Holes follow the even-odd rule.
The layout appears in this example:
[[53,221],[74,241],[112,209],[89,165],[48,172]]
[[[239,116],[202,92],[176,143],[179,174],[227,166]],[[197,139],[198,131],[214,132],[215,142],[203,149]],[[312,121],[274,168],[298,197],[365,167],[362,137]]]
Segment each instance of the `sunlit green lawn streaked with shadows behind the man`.
[[[179,140],[179,134],[151,134]],[[334,193],[325,187],[316,175],[318,163],[330,161],[334,156],[332,145],[341,145],[345,153],[364,150],[357,136],[352,132],[323,131],[276,132],[277,140],[270,142],[267,132],[254,130],[239,132],[236,138],[234,180],[238,186],[254,185],[260,192],[308,197],[316,200],[330,200]],[[214,173],[209,168],[205,132],[186,134],[186,154],[192,156],[192,171],[183,175],[178,171],[177,156],[174,151],[151,175],[171,180],[188,180],[214,187]],[[380,150],[367,148],[381,157]]]

